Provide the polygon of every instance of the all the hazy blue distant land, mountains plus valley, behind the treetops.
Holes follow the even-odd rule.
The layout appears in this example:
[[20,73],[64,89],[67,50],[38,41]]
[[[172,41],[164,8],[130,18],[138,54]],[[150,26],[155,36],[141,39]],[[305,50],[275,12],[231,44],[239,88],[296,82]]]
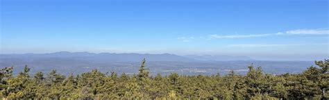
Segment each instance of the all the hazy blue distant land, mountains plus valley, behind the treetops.
[[298,73],[305,70],[313,61],[261,61],[246,56],[178,56],[169,53],[141,54],[141,53],[88,53],[67,52],[56,53],[25,53],[0,54],[0,67],[14,66],[17,74],[24,69],[24,65],[31,67],[31,74],[35,72],[50,72],[57,69],[62,74],[81,74],[92,69],[101,72],[117,72],[136,74],[140,62],[146,58],[146,66],[151,74],[227,74],[235,70],[239,74],[246,74],[248,65],[262,66],[264,72],[271,74]]

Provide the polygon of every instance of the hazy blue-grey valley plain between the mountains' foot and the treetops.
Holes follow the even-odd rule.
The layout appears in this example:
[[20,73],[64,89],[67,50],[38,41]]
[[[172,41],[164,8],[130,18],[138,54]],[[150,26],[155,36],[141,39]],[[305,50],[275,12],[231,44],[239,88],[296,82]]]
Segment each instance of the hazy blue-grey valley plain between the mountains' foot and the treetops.
[[[51,63],[50,63],[51,62]],[[305,70],[312,61],[226,61],[226,62],[148,62],[147,67],[151,74],[171,74],[177,72],[178,74],[227,74],[228,71],[234,70],[239,74],[245,74],[248,70],[248,65],[255,65],[255,67],[262,66],[266,73],[284,74],[284,73],[299,73]],[[91,69],[100,69],[101,72],[118,72],[126,74],[136,74],[140,67],[140,62],[109,62],[109,63],[90,63],[90,62],[31,62],[31,63],[15,63],[14,73],[21,72],[24,65],[31,67],[31,73],[35,72],[50,72],[51,69],[56,69],[62,74],[81,74],[88,72]],[[11,63],[0,63],[1,67],[12,66]]]

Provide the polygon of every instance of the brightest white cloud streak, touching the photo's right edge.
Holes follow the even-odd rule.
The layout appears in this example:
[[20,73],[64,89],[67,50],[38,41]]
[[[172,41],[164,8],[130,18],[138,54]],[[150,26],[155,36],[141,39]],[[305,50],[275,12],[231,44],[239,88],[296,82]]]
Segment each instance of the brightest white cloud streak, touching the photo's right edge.
[[328,28],[319,28],[319,29],[298,29],[292,31],[286,31],[287,34],[304,34],[304,35],[321,35],[321,34],[329,34]]

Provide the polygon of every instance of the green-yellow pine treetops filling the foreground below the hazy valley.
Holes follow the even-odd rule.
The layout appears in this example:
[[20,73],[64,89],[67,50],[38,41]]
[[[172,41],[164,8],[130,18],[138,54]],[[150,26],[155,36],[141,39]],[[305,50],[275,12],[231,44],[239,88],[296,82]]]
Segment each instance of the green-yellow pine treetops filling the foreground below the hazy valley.
[[150,76],[145,59],[139,73],[102,73],[97,69],[64,76],[29,74],[28,66],[17,75],[13,67],[0,70],[3,99],[328,99],[329,60],[315,61],[300,74],[264,74],[248,67],[246,75],[214,74]]

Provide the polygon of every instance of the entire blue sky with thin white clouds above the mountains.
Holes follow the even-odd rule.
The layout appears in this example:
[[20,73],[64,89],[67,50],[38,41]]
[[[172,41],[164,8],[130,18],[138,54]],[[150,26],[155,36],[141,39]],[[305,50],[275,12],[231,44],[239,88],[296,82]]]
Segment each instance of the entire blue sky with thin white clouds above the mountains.
[[329,58],[328,0],[1,0],[0,53]]

